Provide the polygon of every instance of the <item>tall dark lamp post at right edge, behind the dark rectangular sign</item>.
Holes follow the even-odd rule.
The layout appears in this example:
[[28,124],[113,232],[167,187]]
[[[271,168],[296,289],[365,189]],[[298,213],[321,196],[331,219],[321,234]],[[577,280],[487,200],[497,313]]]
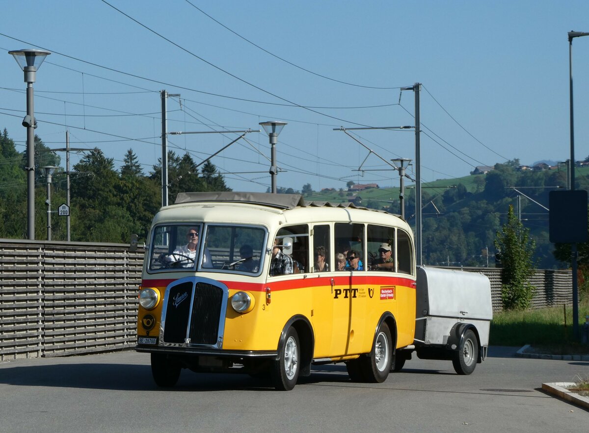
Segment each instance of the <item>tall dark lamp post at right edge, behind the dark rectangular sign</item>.
[[[569,162],[569,189],[575,189],[575,128],[573,116],[573,38],[589,36],[585,32],[568,32],[568,77],[569,77],[569,101],[571,116],[571,161]],[[578,282],[577,282],[577,244],[571,245],[571,271],[573,273],[573,335],[579,337],[579,305],[578,305]]]

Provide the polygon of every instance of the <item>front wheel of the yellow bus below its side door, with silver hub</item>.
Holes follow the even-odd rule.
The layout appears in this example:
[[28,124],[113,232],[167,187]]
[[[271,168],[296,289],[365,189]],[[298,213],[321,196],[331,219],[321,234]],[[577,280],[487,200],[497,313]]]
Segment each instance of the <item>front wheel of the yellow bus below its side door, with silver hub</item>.
[[279,359],[272,367],[272,382],[279,391],[290,391],[299,378],[300,343],[296,329],[286,331],[284,342],[279,351]]

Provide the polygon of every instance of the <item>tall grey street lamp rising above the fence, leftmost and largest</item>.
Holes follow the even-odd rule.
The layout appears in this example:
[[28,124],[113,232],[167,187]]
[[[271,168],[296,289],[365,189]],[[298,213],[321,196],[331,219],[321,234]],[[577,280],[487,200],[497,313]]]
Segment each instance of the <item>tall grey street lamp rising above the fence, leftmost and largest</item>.
[[37,78],[37,69],[49,54],[41,49],[21,49],[9,51],[25,72],[27,83],[27,115],[22,120],[22,126],[27,128],[27,235],[35,239],[35,121],[33,105],[33,83]]

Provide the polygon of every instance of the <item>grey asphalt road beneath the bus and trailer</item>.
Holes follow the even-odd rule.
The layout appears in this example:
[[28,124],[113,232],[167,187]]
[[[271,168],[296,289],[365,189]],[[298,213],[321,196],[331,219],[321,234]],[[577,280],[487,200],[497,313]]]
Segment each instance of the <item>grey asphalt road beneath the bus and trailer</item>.
[[584,432],[589,413],[541,390],[589,362],[515,358],[493,347],[470,376],[449,361],[407,361],[383,384],[319,366],[293,391],[246,375],[184,370],[158,389],[135,352],[0,363],[1,432]]

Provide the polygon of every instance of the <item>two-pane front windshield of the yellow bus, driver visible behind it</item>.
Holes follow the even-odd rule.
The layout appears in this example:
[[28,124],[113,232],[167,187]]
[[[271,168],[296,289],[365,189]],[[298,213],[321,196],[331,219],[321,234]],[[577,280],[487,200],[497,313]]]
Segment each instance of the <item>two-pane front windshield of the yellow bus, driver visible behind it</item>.
[[266,237],[266,229],[253,225],[157,225],[148,270],[259,275]]

